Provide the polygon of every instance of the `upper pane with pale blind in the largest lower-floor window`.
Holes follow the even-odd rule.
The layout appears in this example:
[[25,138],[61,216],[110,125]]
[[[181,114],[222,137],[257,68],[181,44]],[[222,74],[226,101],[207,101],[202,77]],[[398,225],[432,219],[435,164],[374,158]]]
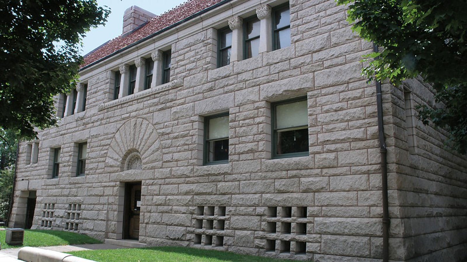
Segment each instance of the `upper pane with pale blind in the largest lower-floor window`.
[[276,106],[276,128],[308,126],[307,100]]

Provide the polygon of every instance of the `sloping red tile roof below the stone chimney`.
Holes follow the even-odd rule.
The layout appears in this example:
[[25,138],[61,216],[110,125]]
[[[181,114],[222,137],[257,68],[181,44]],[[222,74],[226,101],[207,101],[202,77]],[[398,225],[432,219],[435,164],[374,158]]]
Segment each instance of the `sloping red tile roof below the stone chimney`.
[[92,53],[85,56],[81,68],[221,1],[222,0],[188,0],[164,14],[154,17],[147,24],[136,29],[134,32],[124,36],[120,35],[92,51]]

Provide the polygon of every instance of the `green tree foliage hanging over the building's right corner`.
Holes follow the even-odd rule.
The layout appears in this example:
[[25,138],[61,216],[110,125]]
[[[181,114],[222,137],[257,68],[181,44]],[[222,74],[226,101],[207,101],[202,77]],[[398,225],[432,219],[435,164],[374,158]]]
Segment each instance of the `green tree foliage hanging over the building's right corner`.
[[450,145],[466,153],[467,1],[337,1],[349,5],[355,32],[383,47],[367,57],[364,74],[395,85],[418,75],[432,83],[441,106],[419,107],[419,116],[449,131]]

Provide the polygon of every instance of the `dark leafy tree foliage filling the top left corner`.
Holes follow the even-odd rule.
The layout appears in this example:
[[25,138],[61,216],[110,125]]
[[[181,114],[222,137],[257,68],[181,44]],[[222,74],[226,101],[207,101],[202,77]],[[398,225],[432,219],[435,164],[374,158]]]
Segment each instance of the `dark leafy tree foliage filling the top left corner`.
[[80,42],[109,13],[95,0],[0,2],[0,127],[33,138],[57,123],[53,96],[76,86]]

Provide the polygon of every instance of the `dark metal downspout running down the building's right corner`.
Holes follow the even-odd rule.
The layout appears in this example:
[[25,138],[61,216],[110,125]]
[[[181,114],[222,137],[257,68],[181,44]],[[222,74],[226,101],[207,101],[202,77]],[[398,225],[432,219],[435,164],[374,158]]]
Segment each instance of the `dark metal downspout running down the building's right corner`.
[[[373,51],[378,52],[378,46],[373,43]],[[378,137],[381,152],[381,180],[382,180],[382,260],[389,261],[389,204],[388,204],[388,165],[386,141],[382,116],[381,82],[376,84],[376,107],[378,110]]]

